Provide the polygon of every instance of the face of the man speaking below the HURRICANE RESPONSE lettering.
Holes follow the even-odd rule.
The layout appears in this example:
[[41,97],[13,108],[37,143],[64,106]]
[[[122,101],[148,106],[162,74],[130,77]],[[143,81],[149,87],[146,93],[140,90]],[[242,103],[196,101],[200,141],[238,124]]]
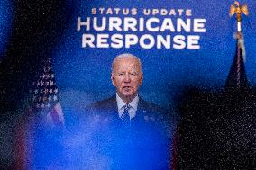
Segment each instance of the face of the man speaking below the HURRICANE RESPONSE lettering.
[[123,102],[130,103],[142,85],[143,79],[142,68],[137,58],[117,58],[111,79]]

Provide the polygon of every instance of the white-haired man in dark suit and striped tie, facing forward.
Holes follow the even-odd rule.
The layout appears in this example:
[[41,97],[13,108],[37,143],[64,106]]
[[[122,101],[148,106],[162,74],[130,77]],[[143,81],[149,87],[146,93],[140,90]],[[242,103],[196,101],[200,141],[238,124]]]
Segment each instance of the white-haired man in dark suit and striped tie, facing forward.
[[132,54],[117,56],[111,79],[116,94],[87,106],[87,130],[97,158],[104,157],[110,169],[168,169],[174,121],[139,96],[141,60]]

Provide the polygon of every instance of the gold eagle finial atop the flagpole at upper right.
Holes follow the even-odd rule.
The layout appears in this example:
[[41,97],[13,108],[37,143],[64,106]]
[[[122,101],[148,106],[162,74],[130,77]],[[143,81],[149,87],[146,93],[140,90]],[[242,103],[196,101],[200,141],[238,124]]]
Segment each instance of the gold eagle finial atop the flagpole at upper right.
[[247,5],[243,4],[241,7],[239,2],[234,1],[234,3],[231,4],[231,6],[230,6],[230,12],[229,12],[230,17],[232,17],[234,13],[236,13],[237,31],[242,31],[242,29],[241,29],[241,19],[242,19],[241,14],[242,13],[244,13],[245,15],[249,14]]

